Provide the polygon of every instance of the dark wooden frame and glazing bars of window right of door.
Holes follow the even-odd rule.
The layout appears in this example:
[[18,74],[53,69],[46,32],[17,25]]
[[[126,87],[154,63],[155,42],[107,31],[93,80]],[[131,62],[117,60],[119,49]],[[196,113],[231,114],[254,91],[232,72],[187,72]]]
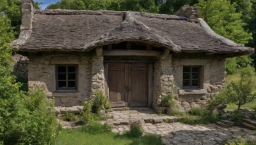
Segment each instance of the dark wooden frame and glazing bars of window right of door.
[[[184,86],[184,67],[189,67],[189,72],[185,72],[185,73],[189,73],[189,79],[186,79],[186,80],[189,80],[189,86]],[[198,71],[197,72],[193,72],[192,71],[192,68],[193,67],[198,67]],[[193,79],[192,78],[192,74],[193,73],[198,73],[198,78],[197,79]],[[198,85],[197,86],[193,86],[192,85],[192,80],[198,80]],[[201,86],[201,66],[183,66],[182,68],[182,88],[200,88]]]

